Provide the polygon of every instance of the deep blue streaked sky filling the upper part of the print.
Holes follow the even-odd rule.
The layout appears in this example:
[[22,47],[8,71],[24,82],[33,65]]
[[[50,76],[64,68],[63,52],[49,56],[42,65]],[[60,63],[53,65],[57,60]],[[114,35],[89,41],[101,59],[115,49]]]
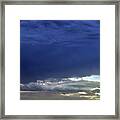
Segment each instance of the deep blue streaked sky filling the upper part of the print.
[[21,20],[20,80],[100,74],[99,20]]

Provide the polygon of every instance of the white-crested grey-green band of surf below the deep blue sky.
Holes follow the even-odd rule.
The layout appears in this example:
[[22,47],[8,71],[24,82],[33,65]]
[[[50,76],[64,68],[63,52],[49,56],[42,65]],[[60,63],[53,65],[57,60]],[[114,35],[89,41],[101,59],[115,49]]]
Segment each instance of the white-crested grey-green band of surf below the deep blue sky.
[[[100,87],[98,75],[87,76],[83,78],[62,78],[57,80],[47,79],[21,84],[21,90],[39,90],[39,91],[80,91],[90,90]],[[87,80],[88,79],[88,80]]]

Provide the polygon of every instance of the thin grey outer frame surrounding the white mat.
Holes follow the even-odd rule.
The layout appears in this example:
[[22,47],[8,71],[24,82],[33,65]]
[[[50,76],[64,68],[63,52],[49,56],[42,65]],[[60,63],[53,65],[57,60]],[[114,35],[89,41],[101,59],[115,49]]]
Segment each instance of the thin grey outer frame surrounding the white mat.
[[[115,5],[115,115],[5,115],[5,5]],[[120,1],[119,0],[38,0],[0,1],[0,119],[120,119],[119,59]]]

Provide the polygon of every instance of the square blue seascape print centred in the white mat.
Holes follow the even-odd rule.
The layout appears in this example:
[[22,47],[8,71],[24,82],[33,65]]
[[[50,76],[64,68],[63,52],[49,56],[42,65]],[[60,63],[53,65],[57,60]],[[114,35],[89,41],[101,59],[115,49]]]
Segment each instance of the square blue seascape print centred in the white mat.
[[100,20],[20,20],[20,100],[100,100]]

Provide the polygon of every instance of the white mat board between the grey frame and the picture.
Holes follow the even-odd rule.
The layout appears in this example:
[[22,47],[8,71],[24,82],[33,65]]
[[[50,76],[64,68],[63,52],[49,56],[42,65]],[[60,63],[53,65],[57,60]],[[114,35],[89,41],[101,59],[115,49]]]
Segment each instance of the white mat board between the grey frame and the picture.
[[[100,20],[100,100],[20,100],[20,20]],[[115,6],[5,5],[5,114],[114,115]]]

